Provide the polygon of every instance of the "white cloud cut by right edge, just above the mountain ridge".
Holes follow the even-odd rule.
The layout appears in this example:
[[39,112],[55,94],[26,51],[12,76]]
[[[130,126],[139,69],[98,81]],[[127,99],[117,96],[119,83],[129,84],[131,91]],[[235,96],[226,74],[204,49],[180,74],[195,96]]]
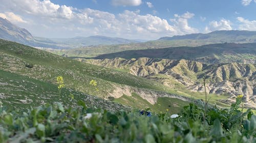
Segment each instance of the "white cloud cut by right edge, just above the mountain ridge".
[[239,30],[256,31],[256,20],[248,20],[243,17],[237,17],[237,20],[241,23]]

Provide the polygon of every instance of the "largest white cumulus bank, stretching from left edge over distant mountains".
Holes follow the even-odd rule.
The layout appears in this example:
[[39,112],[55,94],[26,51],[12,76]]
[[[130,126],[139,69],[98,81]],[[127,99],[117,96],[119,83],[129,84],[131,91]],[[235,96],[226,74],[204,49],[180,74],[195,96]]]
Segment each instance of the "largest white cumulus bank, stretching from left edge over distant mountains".
[[[173,20],[167,21],[152,14],[140,14],[140,10],[125,10],[119,14],[113,14],[90,8],[77,9],[56,5],[47,0],[1,1],[4,2],[4,5],[0,5],[2,16],[8,17],[5,12],[12,11],[18,14],[17,16],[20,15],[20,18],[25,17],[28,22],[25,24],[22,23],[25,20],[19,19],[18,25],[39,37],[104,35],[153,40],[163,36],[198,32],[188,24],[188,19],[195,15],[189,12],[177,14]],[[125,2],[130,2],[130,5],[133,2],[135,5],[135,1]],[[137,5],[141,3],[141,1],[136,2],[139,2]],[[16,20],[18,20],[17,17]]]

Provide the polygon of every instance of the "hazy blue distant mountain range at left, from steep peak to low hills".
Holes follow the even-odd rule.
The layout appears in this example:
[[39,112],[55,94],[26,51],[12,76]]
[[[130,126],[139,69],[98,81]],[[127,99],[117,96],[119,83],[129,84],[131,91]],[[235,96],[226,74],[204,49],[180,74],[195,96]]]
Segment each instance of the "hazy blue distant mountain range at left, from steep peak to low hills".
[[[25,28],[20,28],[12,24],[7,19],[0,17],[0,38],[30,45],[34,47],[46,48],[75,48],[81,46],[92,45],[114,45],[138,43],[142,40],[129,40],[117,37],[90,36],[90,37],[74,37],[74,38],[42,38],[33,37]],[[144,42],[144,41],[143,41]]]

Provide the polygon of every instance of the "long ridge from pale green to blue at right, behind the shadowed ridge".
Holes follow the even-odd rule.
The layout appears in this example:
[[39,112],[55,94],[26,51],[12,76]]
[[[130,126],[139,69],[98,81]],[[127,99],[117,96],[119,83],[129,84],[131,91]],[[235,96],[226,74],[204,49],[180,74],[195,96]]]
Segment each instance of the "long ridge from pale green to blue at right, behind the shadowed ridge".
[[101,54],[121,52],[126,50],[161,49],[180,46],[196,47],[217,43],[253,42],[256,42],[256,32],[253,31],[215,31],[208,34],[188,34],[183,36],[163,37],[158,40],[142,43],[99,45],[67,50],[50,50],[50,52],[65,56],[90,58]]

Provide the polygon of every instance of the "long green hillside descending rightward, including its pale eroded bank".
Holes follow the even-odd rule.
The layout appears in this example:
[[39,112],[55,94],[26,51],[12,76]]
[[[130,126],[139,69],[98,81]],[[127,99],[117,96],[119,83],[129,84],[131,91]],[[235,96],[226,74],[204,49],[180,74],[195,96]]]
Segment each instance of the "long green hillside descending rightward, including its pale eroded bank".
[[[126,99],[121,97],[123,95],[131,97],[132,94],[136,94],[145,102],[148,102],[147,105],[155,105],[158,99],[162,97],[178,98],[183,101],[190,101],[192,97],[156,81],[110,68],[81,63],[5,40],[0,40],[0,69],[51,84],[56,84],[56,77],[62,75],[65,87],[68,89],[95,95],[103,99],[108,99],[109,96],[120,98],[118,100],[120,103],[128,104]],[[97,81],[97,87],[89,84],[92,79]],[[16,95],[17,93],[13,94]],[[223,97],[222,99],[226,98]],[[134,102],[138,101],[135,100]],[[219,101],[212,102],[219,103]],[[162,105],[164,106],[158,108],[166,109],[166,106],[168,107],[166,104]]]

